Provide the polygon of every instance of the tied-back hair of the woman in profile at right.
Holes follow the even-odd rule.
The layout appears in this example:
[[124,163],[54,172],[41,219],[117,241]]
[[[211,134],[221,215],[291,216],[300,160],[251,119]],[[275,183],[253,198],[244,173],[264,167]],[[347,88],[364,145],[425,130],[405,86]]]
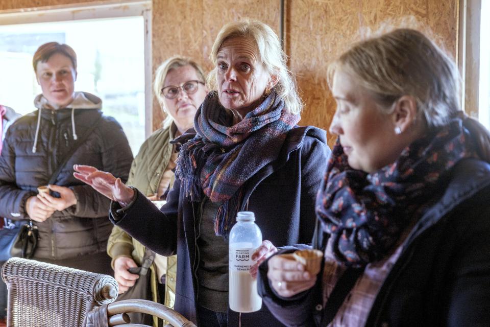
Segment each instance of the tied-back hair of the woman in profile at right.
[[[370,92],[385,113],[404,95],[412,96],[418,119],[428,128],[446,125],[460,108],[457,66],[433,41],[413,29],[397,29],[358,42],[328,67],[328,83],[340,70]],[[490,134],[478,121],[463,117],[480,157],[490,162]]]

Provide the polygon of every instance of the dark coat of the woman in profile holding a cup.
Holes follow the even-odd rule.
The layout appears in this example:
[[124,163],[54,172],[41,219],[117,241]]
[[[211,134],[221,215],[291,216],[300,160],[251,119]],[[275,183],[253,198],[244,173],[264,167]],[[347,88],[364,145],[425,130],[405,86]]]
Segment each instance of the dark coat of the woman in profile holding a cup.
[[[411,230],[366,326],[490,325],[490,165],[462,160],[440,194]],[[269,286],[267,262],[259,275],[259,294],[286,326],[320,326],[321,281],[288,299]]]

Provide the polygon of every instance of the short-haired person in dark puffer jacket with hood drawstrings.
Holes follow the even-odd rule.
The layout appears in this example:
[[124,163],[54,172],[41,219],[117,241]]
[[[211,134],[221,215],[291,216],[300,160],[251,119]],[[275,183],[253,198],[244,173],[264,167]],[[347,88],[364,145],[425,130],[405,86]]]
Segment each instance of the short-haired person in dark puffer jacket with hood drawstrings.
[[[110,200],[73,177],[74,163],[99,167],[128,178],[133,159],[121,126],[102,115],[102,101],[75,92],[76,54],[68,45],[41,45],[33,58],[42,94],[37,111],[18,119],[7,131],[0,157],[0,217],[31,219],[39,229],[33,259],[88,271],[112,273],[106,254],[112,224]],[[77,139],[96,127],[50,180]],[[59,197],[58,197],[59,196]]]

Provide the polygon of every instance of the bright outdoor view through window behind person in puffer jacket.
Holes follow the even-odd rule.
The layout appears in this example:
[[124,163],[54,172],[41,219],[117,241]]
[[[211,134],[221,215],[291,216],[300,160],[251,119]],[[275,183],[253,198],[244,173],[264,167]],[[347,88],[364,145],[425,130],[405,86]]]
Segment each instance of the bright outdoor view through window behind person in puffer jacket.
[[144,21],[142,16],[0,26],[0,104],[26,114],[41,93],[32,67],[39,45],[56,41],[77,53],[76,91],[102,99],[135,155],[144,134]]

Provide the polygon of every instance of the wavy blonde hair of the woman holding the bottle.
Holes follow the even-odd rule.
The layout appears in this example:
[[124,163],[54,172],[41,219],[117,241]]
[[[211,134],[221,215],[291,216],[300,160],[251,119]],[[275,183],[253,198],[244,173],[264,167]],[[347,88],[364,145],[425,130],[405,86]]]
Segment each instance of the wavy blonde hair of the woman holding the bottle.
[[233,37],[250,37],[255,40],[258,57],[267,73],[278,77],[274,90],[283,99],[286,110],[293,114],[300,113],[303,109],[303,102],[298,95],[296,79],[287,68],[287,56],[281,49],[279,38],[269,26],[255,19],[244,18],[230,22],[219,31],[209,55],[214,65],[207,78],[209,88],[217,90],[217,54],[223,43]]

